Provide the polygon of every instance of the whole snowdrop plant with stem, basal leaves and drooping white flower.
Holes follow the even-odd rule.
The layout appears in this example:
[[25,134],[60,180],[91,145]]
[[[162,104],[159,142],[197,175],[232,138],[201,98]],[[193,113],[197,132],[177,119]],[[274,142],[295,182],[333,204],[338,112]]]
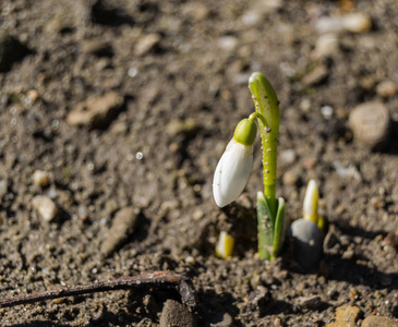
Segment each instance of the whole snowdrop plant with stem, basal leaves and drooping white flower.
[[261,73],[253,73],[249,88],[255,112],[237,126],[233,138],[217,165],[213,181],[216,204],[224,207],[233,202],[248,183],[253,162],[253,143],[257,125],[262,137],[264,193],[257,193],[258,253],[264,259],[277,256],[282,240],[285,201],[276,198],[277,144],[279,131],[279,100]]

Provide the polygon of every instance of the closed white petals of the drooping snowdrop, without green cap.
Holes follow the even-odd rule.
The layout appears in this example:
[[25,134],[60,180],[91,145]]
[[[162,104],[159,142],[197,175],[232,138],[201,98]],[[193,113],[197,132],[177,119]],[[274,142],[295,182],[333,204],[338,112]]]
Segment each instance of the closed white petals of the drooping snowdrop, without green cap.
[[242,193],[253,164],[253,146],[233,140],[218,161],[213,180],[213,195],[219,207],[225,207]]

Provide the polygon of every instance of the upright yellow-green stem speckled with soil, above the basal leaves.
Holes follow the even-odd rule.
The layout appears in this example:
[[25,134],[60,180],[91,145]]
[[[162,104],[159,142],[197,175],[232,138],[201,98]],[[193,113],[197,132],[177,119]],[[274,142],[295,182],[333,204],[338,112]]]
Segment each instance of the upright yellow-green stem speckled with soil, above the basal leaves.
[[279,100],[268,82],[261,73],[253,73],[249,80],[249,88],[254,100],[262,135],[264,196],[269,206],[270,216],[275,219],[278,203],[276,199],[276,160],[279,132]]

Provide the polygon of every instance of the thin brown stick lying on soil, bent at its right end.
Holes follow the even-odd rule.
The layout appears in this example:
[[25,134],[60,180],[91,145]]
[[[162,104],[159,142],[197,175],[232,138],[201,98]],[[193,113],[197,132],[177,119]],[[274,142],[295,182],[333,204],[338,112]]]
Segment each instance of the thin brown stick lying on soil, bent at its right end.
[[181,295],[182,303],[188,305],[190,310],[193,310],[196,306],[195,291],[193,289],[191,280],[186,276],[174,271],[155,271],[132,277],[121,277],[113,280],[69,286],[50,291],[0,299],[0,307],[28,304],[65,296],[75,296],[96,292],[128,290],[144,287],[177,287]]

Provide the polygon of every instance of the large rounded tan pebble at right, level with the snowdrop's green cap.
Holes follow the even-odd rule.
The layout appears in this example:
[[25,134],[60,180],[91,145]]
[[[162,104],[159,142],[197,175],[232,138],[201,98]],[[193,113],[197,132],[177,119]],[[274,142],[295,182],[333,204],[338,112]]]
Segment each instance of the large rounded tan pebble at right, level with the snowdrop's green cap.
[[382,102],[365,102],[352,109],[349,125],[354,140],[359,143],[378,149],[388,141],[389,113]]

